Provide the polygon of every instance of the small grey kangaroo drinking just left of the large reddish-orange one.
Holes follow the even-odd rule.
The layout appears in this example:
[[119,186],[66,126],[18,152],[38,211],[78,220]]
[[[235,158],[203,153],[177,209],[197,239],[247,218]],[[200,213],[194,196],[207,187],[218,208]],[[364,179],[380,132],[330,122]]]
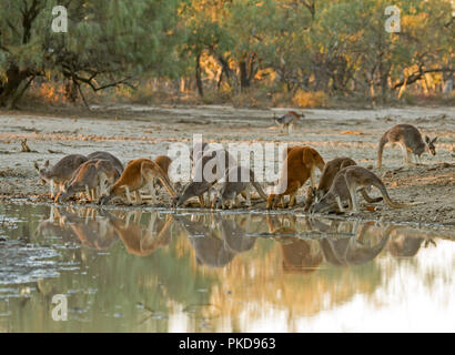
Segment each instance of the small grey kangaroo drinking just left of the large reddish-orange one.
[[223,185],[220,190],[219,196],[213,201],[212,207],[224,210],[225,202],[231,201],[230,209],[237,202],[239,194],[242,194],[246,199],[246,204],[251,206],[251,193],[252,186],[257,191],[260,196],[267,200],[265,192],[261,185],[255,181],[254,173],[251,169],[244,166],[234,166],[228,171],[226,176],[220,181]]

